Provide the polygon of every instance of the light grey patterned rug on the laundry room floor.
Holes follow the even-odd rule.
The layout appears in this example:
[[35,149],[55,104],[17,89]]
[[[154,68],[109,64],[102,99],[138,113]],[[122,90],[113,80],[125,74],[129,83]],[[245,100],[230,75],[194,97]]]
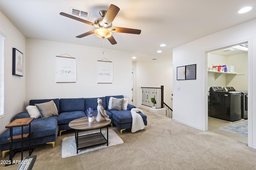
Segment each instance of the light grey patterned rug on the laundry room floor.
[[220,127],[219,129],[248,137],[248,121],[247,120],[242,121],[240,123],[235,123],[233,125]]

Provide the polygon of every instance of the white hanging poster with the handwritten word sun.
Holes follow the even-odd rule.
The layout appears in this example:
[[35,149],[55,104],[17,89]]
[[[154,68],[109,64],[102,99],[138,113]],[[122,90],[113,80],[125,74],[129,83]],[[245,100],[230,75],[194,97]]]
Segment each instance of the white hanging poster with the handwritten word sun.
[[76,82],[76,58],[60,56],[55,57],[55,82]]

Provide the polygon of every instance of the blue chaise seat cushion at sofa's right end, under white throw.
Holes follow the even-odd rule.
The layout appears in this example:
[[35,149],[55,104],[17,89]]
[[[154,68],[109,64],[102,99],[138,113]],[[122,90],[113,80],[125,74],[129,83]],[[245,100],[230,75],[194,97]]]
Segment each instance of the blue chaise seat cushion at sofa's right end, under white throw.
[[[118,111],[118,110],[110,110],[112,112],[112,117],[113,119],[115,119],[118,123],[122,124],[122,123],[131,123],[132,122],[132,113],[130,110],[122,110],[122,111]],[[143,113],[140,113],[142,119],[146,120],[147,116],[144,115]]]

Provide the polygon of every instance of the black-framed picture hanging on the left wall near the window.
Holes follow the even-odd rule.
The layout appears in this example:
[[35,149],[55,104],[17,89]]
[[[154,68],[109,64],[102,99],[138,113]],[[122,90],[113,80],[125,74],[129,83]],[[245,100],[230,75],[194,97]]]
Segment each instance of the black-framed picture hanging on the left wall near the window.
[[23,76],[23,53],[12,48],[12,75]]

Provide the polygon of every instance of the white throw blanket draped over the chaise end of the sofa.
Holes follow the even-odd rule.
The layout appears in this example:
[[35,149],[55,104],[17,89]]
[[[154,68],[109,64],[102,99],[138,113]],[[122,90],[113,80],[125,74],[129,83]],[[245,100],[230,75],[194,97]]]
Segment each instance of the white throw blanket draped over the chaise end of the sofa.
[[142,130],[145,127],[142,117],[137,112],[143,113],[143,111],[141,109],[137,109],[137,108],[132,108],[131,109],[131,113],[132,113],[132,133],[134,133],[136,131],[139,131],[139,130]]

